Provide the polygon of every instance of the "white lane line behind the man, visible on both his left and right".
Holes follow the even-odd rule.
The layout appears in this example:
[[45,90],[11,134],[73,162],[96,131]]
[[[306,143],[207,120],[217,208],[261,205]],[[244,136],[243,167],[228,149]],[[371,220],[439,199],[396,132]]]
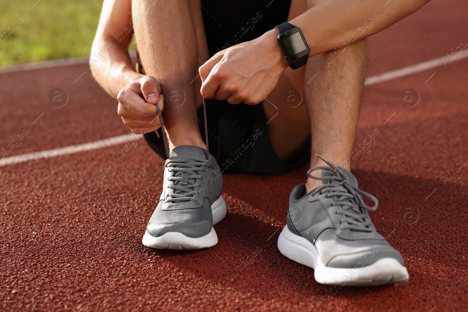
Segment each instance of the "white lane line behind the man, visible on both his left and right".
[[[460,61],[461,59],[467,58],[467,57],[468,57],[468,50],[461,51],[450,62]],[[376,83],[391,80],[393,78],[400,78],[400,77],[411,75],[413,73],[423,72],[427,69],[444,65],[445,64],[444,61],[447,62],[447,57],[434,58],[429,61],[425,61],[425,62],[421,62],[415,65],[396,69],[391,72],[368,77],[366,78],[366,85],[373,85]],[[80,145],[72,145],[68,147],[62,147],[62,148],[57,148],[57,149],[42,151],[42,152],[32,152],[32,153],[27,153],[27,154],[22,154],[22,155],[17,155],[17,156],[10,156],[7,158],[0,159],[0,167],[10,165],[10,164],[17,164],[19,162],[25,162],[29,160],[50,158],[50,157],[55,157],[59,155],[73,154],[76,152],[90,151],[90,150],[95,150],[95,149],[102,148],[102,147],[117,145],[120,143],[124,143],[125,141],[128,141],[131,138],[137,139],[137,137],[134,137],[134,136],[135,136],[134,134],[125,134],[122,136],[103,139],[102,141],[95,141],[95,142],[90,142],[90,143],[85,143],[85,144],[80,144]]]

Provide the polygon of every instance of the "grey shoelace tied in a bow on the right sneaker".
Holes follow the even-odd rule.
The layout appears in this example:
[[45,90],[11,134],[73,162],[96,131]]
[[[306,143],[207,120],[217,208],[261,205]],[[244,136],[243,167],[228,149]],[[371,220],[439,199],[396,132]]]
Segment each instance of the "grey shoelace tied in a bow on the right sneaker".
[[[332,206],[341,206],[341,210],[336,211],[339,215],[344,215],[344,218],[341,219],[341,229],[351,229],[357,231],[373,232],[373,229],[369,228],[372,225],[372,222],[365,221],[365,218],[368,218],[368,215],[365,210],[374,211],[379,206],[379,201],[377,198],[372,196],[369,193],[364,192],[363,190],[358,189],[354,185],[350,184],[346,175],[336,167],[332,162],[325,160],[322,156],[318,155],[323,161],[325,161],[327,166],[316,166],[312,167],[307,171],[307,176],[316,180],[330,180],[332,181],[329,184],[323,184],[315,189],[314,194],[320,192],[320,194],[328,193],[327,197],[333,197],[335,202]],[[329,175],[325,177],[316,177],[311,173],[314,170],[330,170],[335,173],[335,175]],[[364,203],[362,196],[366,196],[374,202],[373,207],[369,207]],[[351,212],[349,209],[353,212]],[[365,209],[364,212],[362,209]]]

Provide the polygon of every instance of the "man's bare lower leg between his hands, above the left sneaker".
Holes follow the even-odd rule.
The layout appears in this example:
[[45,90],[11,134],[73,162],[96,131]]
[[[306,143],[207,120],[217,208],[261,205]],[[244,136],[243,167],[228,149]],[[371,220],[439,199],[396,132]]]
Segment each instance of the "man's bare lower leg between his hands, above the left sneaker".
[[169,147],[206,148],[196,117],[201,81],[195,77],[209,58],[201,7],[194,0],[133,0],[133,16],[141,13],[136,44],[145,73],[161,83]]

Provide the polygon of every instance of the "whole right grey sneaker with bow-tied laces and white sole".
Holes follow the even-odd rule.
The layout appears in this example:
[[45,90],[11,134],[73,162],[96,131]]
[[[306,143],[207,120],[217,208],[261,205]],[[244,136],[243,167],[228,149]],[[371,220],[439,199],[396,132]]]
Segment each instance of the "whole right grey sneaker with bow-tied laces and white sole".
[[[307,172],[323,185],[308,194],[305,183],[292,189],[279,251],[314,268],[315,280],[322,284],[343,287],[408,281],[402,255],[377,233],[367,213],[377,209],[377,199],[358,189],[351,172],[324,161],[330,167]],[[311,175],[318,169],[323,169],[322,177]],[[362,195],[375,205],[367,206]]]

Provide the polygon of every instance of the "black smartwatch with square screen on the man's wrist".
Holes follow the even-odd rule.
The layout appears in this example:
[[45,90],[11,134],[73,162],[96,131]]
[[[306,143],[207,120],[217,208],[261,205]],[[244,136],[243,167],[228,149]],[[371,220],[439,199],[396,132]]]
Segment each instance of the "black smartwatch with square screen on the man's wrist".
[[307,45],[302,31],[288,22],[284,22],[275,26],[278,29],[278,42],[281,50],[285,53],[285,58],[288,60],[292,69],[298,69],[307,64],[310,49]]

